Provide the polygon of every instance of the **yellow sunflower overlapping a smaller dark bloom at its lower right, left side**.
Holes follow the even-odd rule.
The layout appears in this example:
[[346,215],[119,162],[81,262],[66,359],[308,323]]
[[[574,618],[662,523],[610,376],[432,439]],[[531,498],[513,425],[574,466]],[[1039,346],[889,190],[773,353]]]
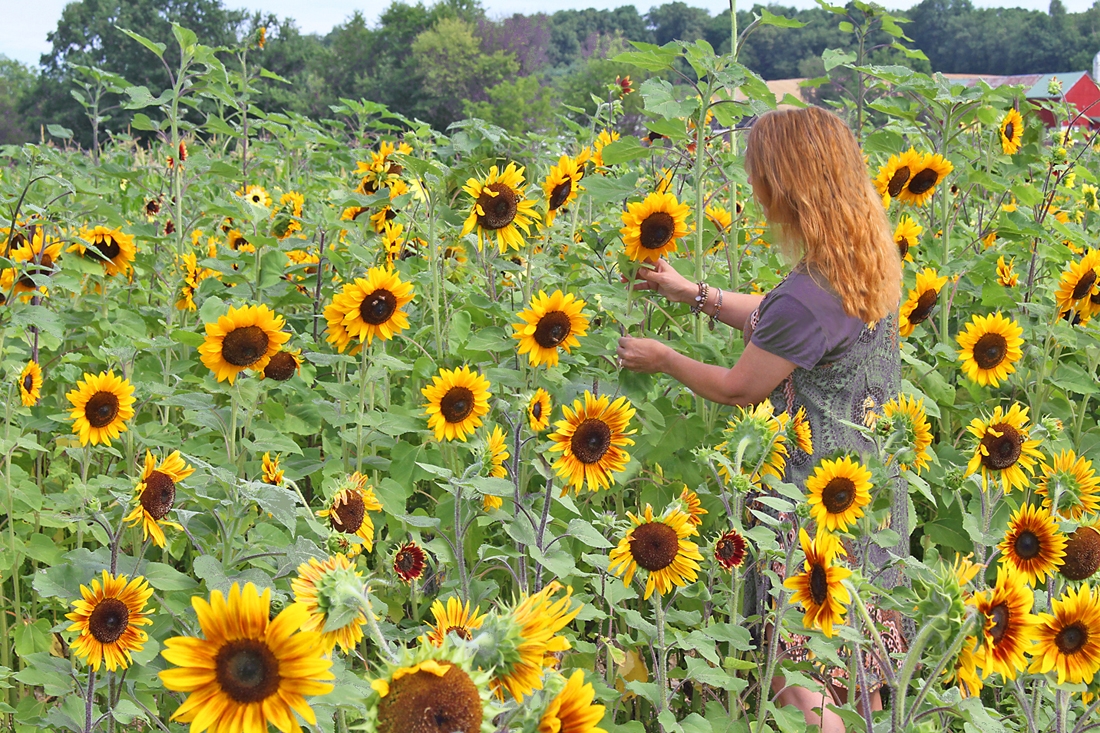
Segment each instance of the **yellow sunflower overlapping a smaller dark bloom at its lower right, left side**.
[[230,306],[229,313],[206,324],[206,339],[199,347],[202,363],[219,382],[232,384],[246,369],[262,372],[290,335],[283,330],[283,316],[265,305]]

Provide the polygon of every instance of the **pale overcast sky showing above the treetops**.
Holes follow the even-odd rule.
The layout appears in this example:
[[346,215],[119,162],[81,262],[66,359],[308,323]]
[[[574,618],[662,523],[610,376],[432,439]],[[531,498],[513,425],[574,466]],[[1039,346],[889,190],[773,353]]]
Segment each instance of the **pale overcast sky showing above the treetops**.
[[[430,0],[429,0],[430,1]],[[728,0],[686,0],[689,4],[706,8],[712,13],[729,7]],[[837,0],[839,1],[839,0]],[[1096,0],[1063,0],[1066,10],[1080,12],[1093,4]],[[3,9],[4,31],[0,36],[0,54],[16,58],[28,64],[37,64],[38,56],[50,50],[46,34],[57,26],[62,9],[69,0],[0,0]],[[246,8],[273,12],[282,18],[293,18],[306,33],[327,33],[333,25],[343,22],[355,10],[363,11],[369,23],[374,23],[388,0],[226,0],[232,8]],[[490,17],[501,18],[513,13],[553,12],[569,8],[618,8],[630,4],[624,0],[482,0],[482,6]],[[646,11],[651,6],[663,4],[663,0],[639,0],[639,10]],[[751,3],[741,0],[741,7]],[[800,8],[812,7],[813,0],[788,0],[784,6]],[[890,9],[904,9],[914,4],[914,0],[884,0]],[[1011,6],[1046,10],[1049,0],[974,0],[977,7]]]

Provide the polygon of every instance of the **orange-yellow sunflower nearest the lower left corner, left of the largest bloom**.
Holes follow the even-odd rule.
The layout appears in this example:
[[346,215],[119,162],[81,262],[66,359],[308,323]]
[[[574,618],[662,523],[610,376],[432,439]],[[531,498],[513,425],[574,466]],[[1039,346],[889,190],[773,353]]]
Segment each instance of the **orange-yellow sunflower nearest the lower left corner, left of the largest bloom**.
[[73,601],[73,612],[65,614],[73,622],[68,631],[80,632],[73,642],[73,654],[87,659],[97,671],[100,665],[109,671],[129,667],[131,653],[141,652],[148,639],[139,627],[153,623],[145,611],[151,595],[153,589],[141,576],[130,580],[107,570],[102,582],[94,578],[91,588],[80,586],[80,599]]

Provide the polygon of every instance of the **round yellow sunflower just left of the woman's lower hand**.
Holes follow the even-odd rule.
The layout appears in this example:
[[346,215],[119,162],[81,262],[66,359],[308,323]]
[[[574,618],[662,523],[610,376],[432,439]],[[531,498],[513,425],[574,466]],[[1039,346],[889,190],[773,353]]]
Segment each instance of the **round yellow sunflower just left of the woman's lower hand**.
[[519,311],[518,324],[513,324],[512,338],[519,341],[519,355],[527,354],[531,366],[558,364],[559,349],[565,352],[581,346],[578,337],[588,332],[588,318],[584,315],[584,300],[572,293],[554,291],[552,295],[539,291],[531,296],[531,305]]

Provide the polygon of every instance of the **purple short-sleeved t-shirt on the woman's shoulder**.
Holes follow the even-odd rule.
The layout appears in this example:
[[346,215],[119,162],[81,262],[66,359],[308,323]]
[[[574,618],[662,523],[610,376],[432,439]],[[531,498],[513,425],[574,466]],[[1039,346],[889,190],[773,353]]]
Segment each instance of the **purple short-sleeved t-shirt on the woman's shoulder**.
[[839,296],[821,275],[795,270],[765,296],[756,313],[756,328],[746,331],[770,354],[802,369],[836,361],[859,338],[864,321],[844,311]]

